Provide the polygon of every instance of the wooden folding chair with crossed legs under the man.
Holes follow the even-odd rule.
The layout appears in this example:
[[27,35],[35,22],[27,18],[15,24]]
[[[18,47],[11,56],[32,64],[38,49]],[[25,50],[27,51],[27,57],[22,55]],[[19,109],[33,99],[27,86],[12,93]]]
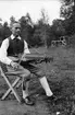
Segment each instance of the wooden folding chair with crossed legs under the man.
[[[3,68],[2,68],[3,67]],[[14,94],[14,96],[16,97],[16,100],[21,103],[21,97],[16,91],[16,87],[20,87],[21,84],[21,78],[20,77],[15,77],[14,82],[11,84],[11,82],[9,81],[9,76],[16,76],[12,72],[8,72],[7,71],[7,66],[4,64],[0,62],[0,73],[3,77],[3,79],[5,80],[7,84],[9,85],[9,89],[7,90],[7,92],[2,95],[1,100],[4,100],[11,92]]]

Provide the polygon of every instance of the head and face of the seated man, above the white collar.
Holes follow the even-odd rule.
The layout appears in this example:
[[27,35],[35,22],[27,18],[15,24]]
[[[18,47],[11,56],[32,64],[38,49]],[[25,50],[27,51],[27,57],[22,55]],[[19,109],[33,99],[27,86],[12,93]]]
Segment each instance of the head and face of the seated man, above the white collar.
[[21,33],[21,25],[20,25],[20,23],[14,23],[14,24],[12,25],[12,34],[13,34],[14,36],[18,36],[20,33]]

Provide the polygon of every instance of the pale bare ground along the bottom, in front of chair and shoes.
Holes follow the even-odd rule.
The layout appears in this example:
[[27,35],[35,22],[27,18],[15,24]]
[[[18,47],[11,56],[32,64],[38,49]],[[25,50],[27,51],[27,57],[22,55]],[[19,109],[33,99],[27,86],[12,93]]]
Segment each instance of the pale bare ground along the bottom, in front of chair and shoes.
[[0,115],[50,115],[49,106],[45,101],[36,101],[34,106],[18,104],[13,101],[0,101]]

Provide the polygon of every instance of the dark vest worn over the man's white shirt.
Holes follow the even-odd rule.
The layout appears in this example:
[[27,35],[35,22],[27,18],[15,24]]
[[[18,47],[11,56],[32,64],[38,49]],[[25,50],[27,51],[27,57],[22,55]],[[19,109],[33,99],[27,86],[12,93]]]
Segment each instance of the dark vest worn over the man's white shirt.
[[23,39],[11,39],[9,37],[9,47],[8,47],[8,56],[15,56],[20,53],[24,51],[24,41]]

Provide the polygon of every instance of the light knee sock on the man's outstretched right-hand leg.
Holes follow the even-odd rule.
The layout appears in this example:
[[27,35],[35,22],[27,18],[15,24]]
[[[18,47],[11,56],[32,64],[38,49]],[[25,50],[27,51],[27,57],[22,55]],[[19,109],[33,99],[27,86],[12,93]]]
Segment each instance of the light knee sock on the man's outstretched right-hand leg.
[[49,88],[47,78],[46,78],[46,77],[42,77],[42,78],[39,79],[39,81],[40,81],[40,84],[41,84],[41,87],[43,88],[43,90],[45,90],[47,96],[53,95],[52,91],[51,91],[50,88]]

